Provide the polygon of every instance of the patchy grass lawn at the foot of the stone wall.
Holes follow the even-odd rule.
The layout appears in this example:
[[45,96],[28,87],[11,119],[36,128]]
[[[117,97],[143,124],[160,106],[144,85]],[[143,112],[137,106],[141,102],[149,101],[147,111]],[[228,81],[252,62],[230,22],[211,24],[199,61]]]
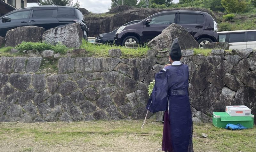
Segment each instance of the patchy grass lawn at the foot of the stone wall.
[[[0,123],[0,151],[161,151],[163,124],[151,119],[141,125],[142,120]],[[230,131],[194,124],[193,144],[197,152],[255,152],[256,127]]]

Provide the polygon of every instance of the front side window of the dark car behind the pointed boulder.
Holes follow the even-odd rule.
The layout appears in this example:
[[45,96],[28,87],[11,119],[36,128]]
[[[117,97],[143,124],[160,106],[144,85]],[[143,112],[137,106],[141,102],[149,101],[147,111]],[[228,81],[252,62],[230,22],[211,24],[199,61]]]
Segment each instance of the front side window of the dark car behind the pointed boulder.
[[166,14],[166,15],[160,15],[151,18],[152,21],[149,23],[151,24],[172,24],[174,23],[175,14]]

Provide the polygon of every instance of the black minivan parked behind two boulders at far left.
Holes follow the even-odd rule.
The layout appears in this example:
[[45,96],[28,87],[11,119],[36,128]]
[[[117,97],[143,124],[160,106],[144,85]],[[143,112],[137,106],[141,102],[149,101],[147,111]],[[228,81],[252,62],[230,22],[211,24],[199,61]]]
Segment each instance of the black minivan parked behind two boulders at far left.
[[16,27],[37,26],[48,30],[78,22],[87,40],[89,28],[81,10],[68,6],[34,6],[11,11],[0,17],[0,36]]

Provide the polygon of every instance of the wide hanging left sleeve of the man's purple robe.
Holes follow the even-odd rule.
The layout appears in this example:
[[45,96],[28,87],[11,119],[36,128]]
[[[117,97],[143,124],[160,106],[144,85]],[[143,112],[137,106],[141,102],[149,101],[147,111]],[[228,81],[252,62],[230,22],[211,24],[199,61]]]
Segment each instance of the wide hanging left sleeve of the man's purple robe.
[[155,86],[149,97],[146,109],[155,113],[158,111],[166,111],[168,109],[168,81],[165,69],[156,73]]

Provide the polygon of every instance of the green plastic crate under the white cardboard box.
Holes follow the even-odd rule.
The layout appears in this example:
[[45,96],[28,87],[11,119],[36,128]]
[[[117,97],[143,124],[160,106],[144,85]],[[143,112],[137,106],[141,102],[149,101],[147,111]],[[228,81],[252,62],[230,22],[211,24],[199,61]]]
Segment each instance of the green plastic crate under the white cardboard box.
[[219,128],[225,128],[227,124],[241,124],[247,128],[253,128],[253,118],[251,116],[230,116],[226,112],[212,112],[212,124]]

